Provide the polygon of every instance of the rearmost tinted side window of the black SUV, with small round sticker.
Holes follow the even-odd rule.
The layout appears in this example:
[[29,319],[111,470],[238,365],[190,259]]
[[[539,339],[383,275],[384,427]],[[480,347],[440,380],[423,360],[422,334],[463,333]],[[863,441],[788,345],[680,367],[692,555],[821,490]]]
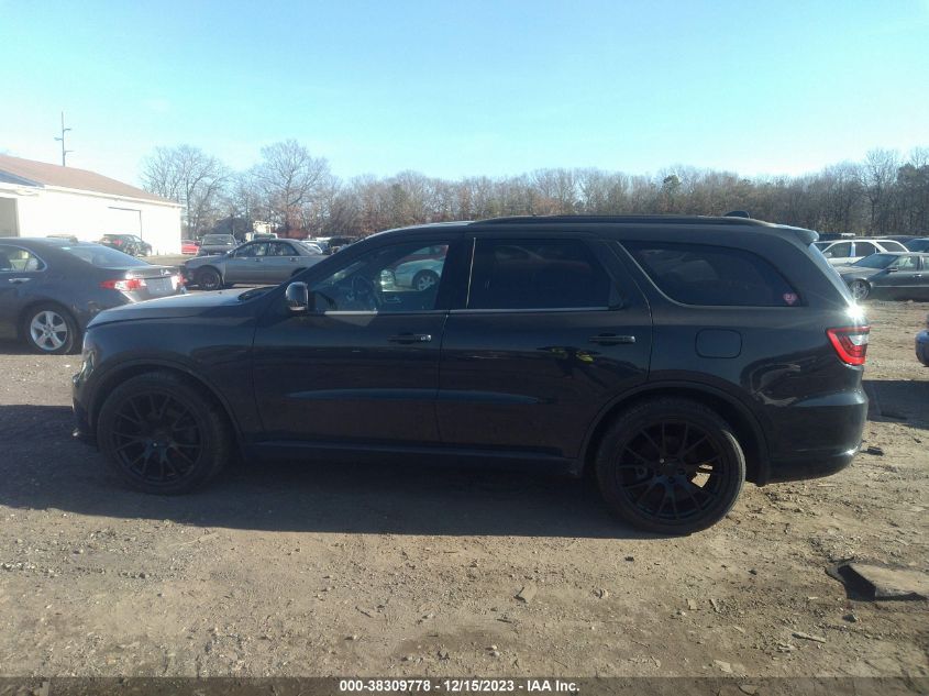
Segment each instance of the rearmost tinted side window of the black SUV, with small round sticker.
[[684,305],[793,307],[796,290],[767,261],[741,248],[624,242],[652,281]]

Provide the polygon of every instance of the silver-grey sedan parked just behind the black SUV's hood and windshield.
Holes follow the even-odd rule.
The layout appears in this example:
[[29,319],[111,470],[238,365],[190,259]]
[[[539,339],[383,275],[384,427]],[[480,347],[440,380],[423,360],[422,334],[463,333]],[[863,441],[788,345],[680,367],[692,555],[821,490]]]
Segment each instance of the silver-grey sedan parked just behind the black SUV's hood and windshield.
[[219,290],[237,283],[277,284],[325,258],[292,240],[247,242],[219,256],[186,262],[183,273],[201,290]]

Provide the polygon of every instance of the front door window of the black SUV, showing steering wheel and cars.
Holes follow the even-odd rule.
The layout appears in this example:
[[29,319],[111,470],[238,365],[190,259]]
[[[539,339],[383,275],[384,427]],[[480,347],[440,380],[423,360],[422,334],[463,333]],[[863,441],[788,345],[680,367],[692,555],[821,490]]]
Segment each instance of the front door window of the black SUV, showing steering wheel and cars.
[[313,284],[316,310],[433,310],[447,251],[447,243],[423,246],[422,242],[371,251]]

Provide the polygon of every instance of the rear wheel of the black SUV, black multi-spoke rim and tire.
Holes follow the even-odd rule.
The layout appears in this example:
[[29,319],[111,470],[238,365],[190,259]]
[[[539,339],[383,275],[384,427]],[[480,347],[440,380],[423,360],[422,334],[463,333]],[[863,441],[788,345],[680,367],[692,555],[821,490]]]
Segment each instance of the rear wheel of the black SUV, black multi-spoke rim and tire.
[[660,398],[617,418],[597,451],[610,511],[638,529],[692,534],[721,520],[745,480],[732,428],[688,399]]

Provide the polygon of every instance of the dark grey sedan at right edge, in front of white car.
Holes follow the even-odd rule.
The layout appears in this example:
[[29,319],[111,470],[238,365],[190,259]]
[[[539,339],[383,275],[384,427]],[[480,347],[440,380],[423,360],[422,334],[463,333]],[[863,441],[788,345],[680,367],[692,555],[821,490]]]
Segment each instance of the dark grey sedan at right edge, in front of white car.
[[883,252],[836,269],[858,301],[929,300],[929,254]]

